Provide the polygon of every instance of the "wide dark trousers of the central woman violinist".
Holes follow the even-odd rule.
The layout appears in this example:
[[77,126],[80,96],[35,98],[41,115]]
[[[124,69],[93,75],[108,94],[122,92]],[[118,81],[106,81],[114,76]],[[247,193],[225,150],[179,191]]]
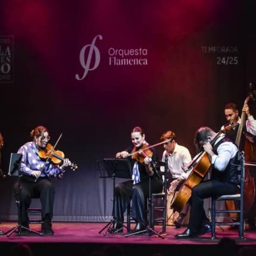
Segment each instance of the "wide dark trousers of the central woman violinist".
[[[158,179],[152,179],[152,193],[159,193],[163,189],[163,183]],[[118,183],[114,190],[113,217],[119,222],[124,221],[124,212],[132,199],[131,217],[146,226],[145,199],[149,196],[149,179],[143,179],[133,185],[133,180]]]

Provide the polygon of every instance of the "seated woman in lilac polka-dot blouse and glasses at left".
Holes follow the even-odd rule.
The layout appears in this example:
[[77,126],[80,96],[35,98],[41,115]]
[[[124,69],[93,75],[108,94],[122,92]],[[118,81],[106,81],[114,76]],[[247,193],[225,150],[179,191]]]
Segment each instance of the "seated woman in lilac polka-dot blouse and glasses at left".
[[[20,170],[21,189],[18,189],[18,183],[14,186],[15,197],[20,201],[21,225],[29,227],[27,208],[29,208],[31,199],[39,196],[42,204],[42,233],[45,235],[54,235],[51,220],[55,191],[49,177],[61,177],[64,169],[67,166],[70,166],[71,163],[65,158],[61,166],[53,166],[51,163],[45,164],[45,161],[40,159],[38,152],[40,149],[46,147],[50,139],[46,127],[36,127],[32,130],[30,136],[33,141],[27,142],[18,149],[18,153],[22,154]],[[44,165],[45,167],[42,170]],[[35,179],[37,178],[38,180],[35,182]]]

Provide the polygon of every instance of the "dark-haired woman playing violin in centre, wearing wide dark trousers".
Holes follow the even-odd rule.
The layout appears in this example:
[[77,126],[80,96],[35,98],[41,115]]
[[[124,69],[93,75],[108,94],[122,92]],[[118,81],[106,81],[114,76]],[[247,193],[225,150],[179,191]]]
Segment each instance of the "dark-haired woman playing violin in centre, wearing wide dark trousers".
[[[118,152],[116,158],[127,158],[129,153],[139,151],[144,145],[148,145],[145,140],[145,133],[141,127],[133,128],[131,132],[132,146],[124,151]],[[143,163],[140,161],[129,157],[129,160],[133,166],[132,180],[127,182],[119,183],[114,190],[115,204],[113,215],[115,219],[115,224],[113,232],[123,232],[123,221],[124,212],[127,209],[130,199],[132,199],[132,218],[136,221],[135,229],[132,232],[138,232],[146,227],[146,214],[145,214],[145,199],[149,196],[149,175],[152,176],[152,192],[158,193],[163,189],[163,182],[157,178],[154,169],[151,166],[152,161],[157,161],[157,154],[154,149],[152,151],[152,157],[145,157]]]

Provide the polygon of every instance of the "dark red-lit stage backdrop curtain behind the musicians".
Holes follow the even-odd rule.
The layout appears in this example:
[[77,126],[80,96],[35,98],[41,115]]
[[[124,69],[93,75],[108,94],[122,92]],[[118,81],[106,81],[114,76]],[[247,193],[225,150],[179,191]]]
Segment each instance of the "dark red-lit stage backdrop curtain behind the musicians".
[[[96,160],[126,148],[134,126],[145,129],[149,143],[174,130],[193,155],[199,126],[218,130],[227,102],[242,107],[255,79],[252,10],[232,0],[2,0],[0,35],[14,36],[14,82],[0,83],[4,170],[33,127],[48,127],[53,142],[63,132],[58,148],[80,168],[55,181],[55,219],[109,218],[111,182],[98,179]],[[99,65],[77,80],[80,51],[97,35]],[[237,51],[207,52],[214,46]],[[146,49],[148,65],[110,65],[110,48]],[[85,61],[88,54],[89,47]],[[223,57],[238,64],[221,63]],[[94,61],[93,51],[90,68]],[[16,214],[13,179],[0,181],[5,219]]]

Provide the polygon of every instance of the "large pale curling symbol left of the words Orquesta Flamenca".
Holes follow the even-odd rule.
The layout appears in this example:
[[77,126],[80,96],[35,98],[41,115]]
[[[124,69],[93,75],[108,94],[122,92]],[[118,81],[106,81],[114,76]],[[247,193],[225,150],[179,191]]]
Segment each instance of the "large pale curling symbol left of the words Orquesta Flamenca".
[[[79,74],[76,74],[76,79],[77,80],[83,80],[88,74],[88,71],[95,70],[98,65],[99,61],[101,60],[101,54],[99,53],[99,49],[95,46],[96,39],[99,38],[102,40],[102,35],[97,35],[95,38],[92,40],[92,43],[90,45],[85,45],[80,51],[80,64],[82,65],[84,71],[83,71],[83,76],[79,76]],[[87,56],[87,60],[85,61],[85,50],[89,48],[89,54]],[[94,54],[93,54],[94,53]],[[94,57],[94,65],[91,67],[91,62],[92,62],[92,57]]]

